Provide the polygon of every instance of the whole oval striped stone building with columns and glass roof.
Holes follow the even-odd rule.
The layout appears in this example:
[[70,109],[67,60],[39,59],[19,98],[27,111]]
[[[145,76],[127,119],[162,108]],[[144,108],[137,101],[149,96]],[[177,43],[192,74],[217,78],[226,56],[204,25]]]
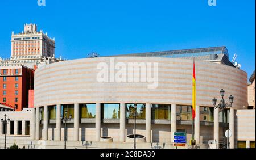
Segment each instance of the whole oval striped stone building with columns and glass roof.
[[[222,118],[232,130],[230,148],[237,148],[237,110],[247,106],[247,74],[233,66],[225,47],[174,50],[94,57],[42,66],[35,71],[35,141],[63,145],[67,124],[69,146],[84,141],[101,148],[133,148],[127,137],[134,133],[134,103],[137,103],[137,134],[146,137],[138,148],[151,143],[172,148],[174,132],[192,137],[192,70],[196,67],[197,144],[222,143]],[[234,96],[232,108],[213,108],[212,99]],[[129,112],[130,111],[130,112]],[[32,113],[32,112],[31,112]],[[102,137],[113,142],[104,143]],[[63,146],[59,148],[63,148]],[[97,147],[96,147],[97,148]]]

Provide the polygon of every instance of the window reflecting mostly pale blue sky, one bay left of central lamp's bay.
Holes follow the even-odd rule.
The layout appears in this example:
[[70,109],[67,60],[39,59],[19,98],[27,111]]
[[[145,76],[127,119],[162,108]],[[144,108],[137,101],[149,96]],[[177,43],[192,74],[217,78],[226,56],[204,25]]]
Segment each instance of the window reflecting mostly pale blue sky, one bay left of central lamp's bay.
[[119,119],[120,118],[120,104],[102,104],[102,113],[104,119]]

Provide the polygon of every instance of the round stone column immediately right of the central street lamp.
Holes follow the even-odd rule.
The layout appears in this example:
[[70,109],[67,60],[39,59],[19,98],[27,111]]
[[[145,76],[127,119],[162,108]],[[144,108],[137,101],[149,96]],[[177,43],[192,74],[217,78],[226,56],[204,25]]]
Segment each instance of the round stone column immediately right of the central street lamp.
[[146,142],[151,142],[151,103],[146,103]]

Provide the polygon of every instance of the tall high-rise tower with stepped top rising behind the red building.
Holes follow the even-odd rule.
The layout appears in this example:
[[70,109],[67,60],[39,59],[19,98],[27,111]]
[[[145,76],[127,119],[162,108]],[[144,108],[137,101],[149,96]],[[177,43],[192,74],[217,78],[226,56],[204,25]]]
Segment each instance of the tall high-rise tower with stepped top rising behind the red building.
[[0,66],[20,66],[34,68],[34,65],[50,64],[61,59],[55,58],[55,39],[38,31],[36,24],[24,24],[24,30],[11,34],[11,57],[3,60]]

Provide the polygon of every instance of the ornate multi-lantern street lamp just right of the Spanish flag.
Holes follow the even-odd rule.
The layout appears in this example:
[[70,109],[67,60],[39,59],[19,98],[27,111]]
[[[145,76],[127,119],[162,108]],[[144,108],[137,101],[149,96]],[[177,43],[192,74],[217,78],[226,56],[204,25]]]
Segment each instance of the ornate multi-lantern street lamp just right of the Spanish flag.
[[232,104],[234,102],[234,96],[230,95],[229,96],[229,103],[226,103],[225,100],[224,100],[224,94],[225,94],[225,91],[223,89],[220,90],[220,95],[221,95],[221,100],[220,100],[220,103],[217,105],[217,99],[214,97],[212,99],[212,103],[213,103],[213,106],[214,106],[214,109],[221,109],[222,110],[222,139],[223,139],[223,144],[222,144],[222,148],[228,148],[228,146],[225,147],[225,123],[224,123],[224,109],[225,108],[231,108],[232,107]]

